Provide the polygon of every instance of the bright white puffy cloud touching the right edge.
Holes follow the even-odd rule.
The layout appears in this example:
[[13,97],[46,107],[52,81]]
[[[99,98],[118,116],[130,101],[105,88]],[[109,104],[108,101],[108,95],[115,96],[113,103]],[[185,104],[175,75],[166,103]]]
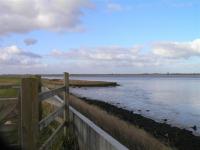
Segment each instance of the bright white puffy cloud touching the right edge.
[[190,42],[157,42],[152,46],[155,55],[166,58],[200,56],[200,39]]

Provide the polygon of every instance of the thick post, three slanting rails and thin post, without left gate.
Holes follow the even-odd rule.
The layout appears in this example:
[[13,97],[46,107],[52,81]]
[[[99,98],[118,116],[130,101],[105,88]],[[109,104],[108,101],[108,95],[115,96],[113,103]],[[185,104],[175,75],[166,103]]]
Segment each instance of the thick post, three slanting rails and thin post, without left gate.
[[[40,92],[40,78],[23,78],[21,83],[21,145],[27,150],[48,149],[48,146],[56,138],[56,135],[63,130],[66,135],[66,122],[69,111],[69,74],[64,73],[64,86],[46,92]],[[64,92],[64,104],[54,112],[41,119],[41,102]],[[53,134],[39,147],[39,132],[54,121],[60,114],[63,115],[63,122],[57,127]],[[40,120],[41,119],[41,120]],[[39,148],[38,148],[39,147]]]

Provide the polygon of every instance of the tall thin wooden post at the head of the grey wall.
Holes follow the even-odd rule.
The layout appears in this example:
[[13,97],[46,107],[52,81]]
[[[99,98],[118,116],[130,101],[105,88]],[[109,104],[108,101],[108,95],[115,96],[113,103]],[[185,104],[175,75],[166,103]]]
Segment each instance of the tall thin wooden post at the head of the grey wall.
[[[69,73],[64,73],[64,86],[65,86],[65,92],[64,92],[64,121],[65,123],[69,123]],[[64,136],[66,136],[66,126],[64,127]]]

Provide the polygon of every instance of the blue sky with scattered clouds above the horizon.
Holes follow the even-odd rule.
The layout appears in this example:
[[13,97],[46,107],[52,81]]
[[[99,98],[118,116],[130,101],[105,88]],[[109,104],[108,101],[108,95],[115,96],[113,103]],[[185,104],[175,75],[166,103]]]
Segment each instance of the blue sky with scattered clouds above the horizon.
[[200,73],[199,0],[0,0],[0,74]]

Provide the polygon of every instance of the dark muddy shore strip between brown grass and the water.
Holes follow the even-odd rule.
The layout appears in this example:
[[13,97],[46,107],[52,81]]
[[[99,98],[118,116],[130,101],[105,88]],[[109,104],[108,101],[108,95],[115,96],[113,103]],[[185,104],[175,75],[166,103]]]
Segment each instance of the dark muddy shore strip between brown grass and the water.
[[100,107],[109,114],[117,116],[130,124],[144,129],[163,143],[170,145],[171,147],[175,147],[178,150],[200,149],[200,137],[194,136],[191,131],[180,129],[178,127],[172,127],[166,123],[158,123],[152,119],[143,117],[140,114],[136,114],[133,111],[119,108],[103,101],[91,100],[85,97],[79,98],[89,104]]

